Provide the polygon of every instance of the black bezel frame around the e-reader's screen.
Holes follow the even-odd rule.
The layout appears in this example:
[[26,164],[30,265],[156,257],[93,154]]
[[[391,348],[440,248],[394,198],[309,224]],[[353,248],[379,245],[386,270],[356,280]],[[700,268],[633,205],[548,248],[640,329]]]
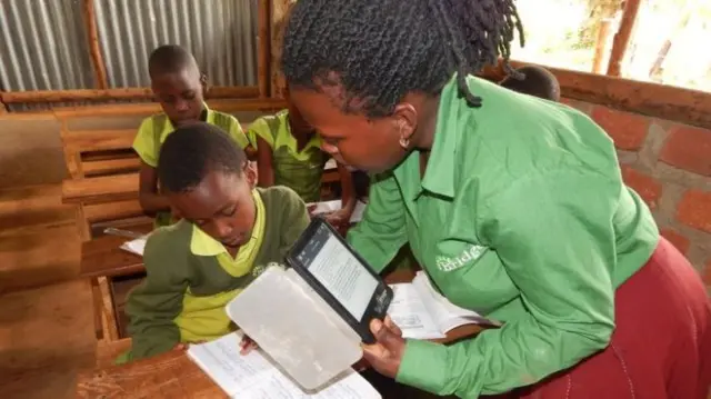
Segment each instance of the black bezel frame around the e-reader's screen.
[[[361,320],[356,319],[353,315],[351,315],[351,312],[348,311],[348,309],[346,309],[346,307],[341,302],[339,302],[338,299],[336,299],[336,297],[331,292],[329,292],[329,290],[327,290],[326,287],[323,287],[323,285],[321,285],[319,280],[313,275],[311,275],[311,272],[309,272],[308,268],[302,265],[297,258],[297,255],[303,250],[307,243],[321,227],[326,227],[327,229],[329,229],[331,235],[333,235],[356,257],[356,259],[358,259],[361,266],[365,270],[368,270],[368,272],[378,281],[378,286],[375,287],[375,290],[373,291],[373,295],[368,302],[368,307],[365,308]],[[346,242],[341,235],[339,235],[339,232],[331,225],[329,225],[322,218],[313,218],[309,227],[301,233],[297,242],[287,253],[286,260],[287,265],[292,267],[297,271],[297,273],[299,273],[299,276],[301,276],[301,278],[303,278],[304,281],[307,281],[307,283],[311,288],[313,288],[313,290],[317,291],[317,293],[321,298],[323,298],[323,300],[326,300],[331,306],[331,308],[346,322],[348,322],[351,328],[353,328],[356,332],[358,332],[363,342],[375,342],[375,338],[370,332],[370,321],[372,319],[384,319],[388,312],[388,308],[390,307],[390,302],[392,301],[392,289],[383,281],[383,279],[378,273],[373,271],[368,262],[362,257],[360,257],[358,252],[356,252],[353,248],[348,245],[348,242]]]

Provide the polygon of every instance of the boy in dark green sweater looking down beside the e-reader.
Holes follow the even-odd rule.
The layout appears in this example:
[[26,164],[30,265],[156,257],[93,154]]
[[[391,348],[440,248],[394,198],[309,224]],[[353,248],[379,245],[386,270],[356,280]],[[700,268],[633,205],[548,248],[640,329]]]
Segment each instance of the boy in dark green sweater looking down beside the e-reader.
[[256,189],[244,151],[208,123],[166,139],[158,176],[180,221],[157,229],[146,245],[148,276],[126,307],[132,338],[126,360],[233,331],[224,306],[267,265],[282,261],[309,225],[299,196],[286,187]]

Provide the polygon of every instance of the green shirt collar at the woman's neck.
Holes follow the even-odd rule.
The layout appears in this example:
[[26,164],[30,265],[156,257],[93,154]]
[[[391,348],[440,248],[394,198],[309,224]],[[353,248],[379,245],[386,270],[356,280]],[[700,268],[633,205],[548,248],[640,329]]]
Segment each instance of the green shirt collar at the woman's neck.
[[[468,79],[469,81],[469,79]],[[460,142],[461,126],[468,114],[462,110],[457,74],[444,86],[437,112],[434,142],[428,167],[422,178],[422,188],[448,198],[454,197],[454,161]]]

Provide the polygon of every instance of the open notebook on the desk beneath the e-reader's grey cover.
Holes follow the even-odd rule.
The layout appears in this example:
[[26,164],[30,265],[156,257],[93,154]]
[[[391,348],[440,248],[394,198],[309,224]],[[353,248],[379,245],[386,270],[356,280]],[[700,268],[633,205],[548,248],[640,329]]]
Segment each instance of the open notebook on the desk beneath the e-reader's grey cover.
[[317,392],[303,391],[261,350],[240,355],[239,332],[211,342],[192,345],[188,356],[224,390],[239,399],[380,399],[363,377],[349,369]]

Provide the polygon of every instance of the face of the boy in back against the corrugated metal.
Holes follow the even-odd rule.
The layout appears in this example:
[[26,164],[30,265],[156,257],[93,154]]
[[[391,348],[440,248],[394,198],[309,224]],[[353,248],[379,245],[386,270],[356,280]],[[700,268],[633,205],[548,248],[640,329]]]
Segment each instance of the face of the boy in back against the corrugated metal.
[[192,68],[159,73],[151,79],[156,98],[176,128],[200,120],[207,78]]

